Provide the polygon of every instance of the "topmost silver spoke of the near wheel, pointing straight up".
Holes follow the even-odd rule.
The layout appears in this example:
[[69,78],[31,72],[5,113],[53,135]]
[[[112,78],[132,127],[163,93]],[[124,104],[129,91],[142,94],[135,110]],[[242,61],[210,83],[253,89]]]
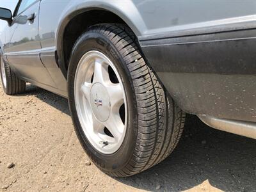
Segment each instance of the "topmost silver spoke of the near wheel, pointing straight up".
[[103,60],[95,59],[93,83],[106,84],[109,81],[108,65]]

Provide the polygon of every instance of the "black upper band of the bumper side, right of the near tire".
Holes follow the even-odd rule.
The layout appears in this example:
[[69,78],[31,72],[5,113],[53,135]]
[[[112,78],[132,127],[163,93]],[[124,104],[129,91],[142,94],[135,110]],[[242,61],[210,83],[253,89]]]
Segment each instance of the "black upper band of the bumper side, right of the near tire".
[[256,74],[256,29],[140,42],[156,72]]

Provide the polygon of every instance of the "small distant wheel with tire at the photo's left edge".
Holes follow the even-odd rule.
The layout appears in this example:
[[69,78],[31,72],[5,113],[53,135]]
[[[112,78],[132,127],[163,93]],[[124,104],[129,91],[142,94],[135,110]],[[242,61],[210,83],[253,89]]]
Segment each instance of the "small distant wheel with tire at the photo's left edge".
[[6,63],[3,58],[0,58],[0,68],[4,93],[7,95],[24,93],[26,90],[26,82],[16,76],[10,68],[10,65]]

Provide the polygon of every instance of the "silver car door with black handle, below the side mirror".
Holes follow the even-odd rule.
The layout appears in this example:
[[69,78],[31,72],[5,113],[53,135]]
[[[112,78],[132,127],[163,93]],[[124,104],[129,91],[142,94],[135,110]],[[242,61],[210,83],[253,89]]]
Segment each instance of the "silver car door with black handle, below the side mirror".
[[5,47],[7,60],[19,75],[31,83],[56,87],[40,60],[38,35],[40,0],[21,0],[13,13],[10,40]]

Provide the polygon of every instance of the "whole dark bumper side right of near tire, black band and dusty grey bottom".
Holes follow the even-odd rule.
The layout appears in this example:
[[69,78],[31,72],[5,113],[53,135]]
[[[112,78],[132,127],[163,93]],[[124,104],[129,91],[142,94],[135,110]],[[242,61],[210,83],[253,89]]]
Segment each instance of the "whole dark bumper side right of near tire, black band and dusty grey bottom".
[[187,113],[256,122],[256,29],[140,41]]

